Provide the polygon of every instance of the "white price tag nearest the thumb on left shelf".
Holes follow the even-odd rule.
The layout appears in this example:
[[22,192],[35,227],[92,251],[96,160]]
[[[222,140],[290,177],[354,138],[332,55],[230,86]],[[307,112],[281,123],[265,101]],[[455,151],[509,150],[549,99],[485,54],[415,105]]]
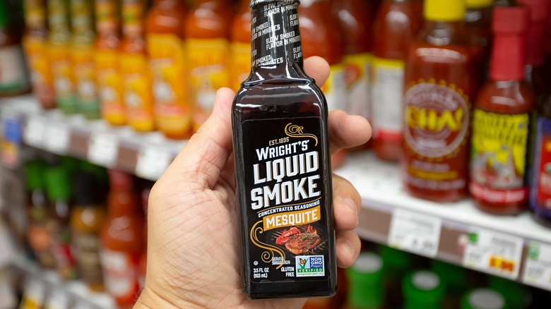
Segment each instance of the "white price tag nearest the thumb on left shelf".
[[136,163],[136,176],[156,181],[172,162],[172,158],[167,149],[155,146],[141,147]]

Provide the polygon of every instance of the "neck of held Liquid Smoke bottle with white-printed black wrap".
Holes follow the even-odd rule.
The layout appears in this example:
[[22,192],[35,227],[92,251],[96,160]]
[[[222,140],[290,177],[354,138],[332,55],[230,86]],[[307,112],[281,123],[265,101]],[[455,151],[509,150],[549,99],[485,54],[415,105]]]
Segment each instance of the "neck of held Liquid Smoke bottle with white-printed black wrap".
[[264,70],[283,71],[285,77],[304,77],[297,8],[296,0],[263,2],[252,8],[252,78]]

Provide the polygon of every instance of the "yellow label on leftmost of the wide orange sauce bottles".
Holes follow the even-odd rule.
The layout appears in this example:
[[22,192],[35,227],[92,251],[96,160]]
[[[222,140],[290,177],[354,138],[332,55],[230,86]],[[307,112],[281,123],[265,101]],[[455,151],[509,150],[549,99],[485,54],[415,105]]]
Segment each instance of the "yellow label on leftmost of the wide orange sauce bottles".
[[148,35],[147,42],[157,126],[166,133],[186,133],[192,115],[184,80],[184,42],[176,35]]

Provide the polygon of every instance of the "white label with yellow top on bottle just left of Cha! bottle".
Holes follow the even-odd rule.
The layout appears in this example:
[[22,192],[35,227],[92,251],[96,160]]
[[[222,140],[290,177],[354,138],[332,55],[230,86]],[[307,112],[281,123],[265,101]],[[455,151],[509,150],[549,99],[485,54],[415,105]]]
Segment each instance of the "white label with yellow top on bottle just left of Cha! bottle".
[[401,140],[404,62],[373,58],[373,136],[381,140]]

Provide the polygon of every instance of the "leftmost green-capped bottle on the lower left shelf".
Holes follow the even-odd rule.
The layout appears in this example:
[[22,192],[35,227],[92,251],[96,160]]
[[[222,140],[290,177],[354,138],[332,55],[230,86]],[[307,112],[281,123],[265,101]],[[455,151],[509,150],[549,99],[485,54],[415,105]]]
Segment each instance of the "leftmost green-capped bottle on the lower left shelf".
[[28,193],[28,241],[38,265],[54,268],[56,260],[52,251],[52,234],[49,229],[49,205],[44,190],[43,173],[46,164],[35,160],[23,166]]

